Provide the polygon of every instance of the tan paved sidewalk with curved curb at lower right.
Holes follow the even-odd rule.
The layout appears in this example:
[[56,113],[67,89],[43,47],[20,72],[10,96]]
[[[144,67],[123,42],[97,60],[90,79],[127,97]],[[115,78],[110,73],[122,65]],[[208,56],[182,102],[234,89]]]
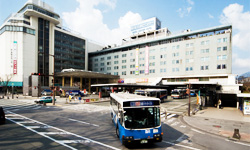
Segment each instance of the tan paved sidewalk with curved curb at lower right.
[[183,116],[188,125],[227,138],[233,138],[234,130],[239,129],[240,141],[250,142],[250,116],[244,116],[236,108],[207,108],[192,116]]

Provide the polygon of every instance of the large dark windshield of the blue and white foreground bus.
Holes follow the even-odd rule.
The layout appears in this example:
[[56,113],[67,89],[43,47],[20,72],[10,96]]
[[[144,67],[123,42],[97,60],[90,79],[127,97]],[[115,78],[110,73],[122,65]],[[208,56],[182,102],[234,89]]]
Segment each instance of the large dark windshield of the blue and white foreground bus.
[[141,129],[160,125],[160,109],[157,107],[124,109],[125,128]]

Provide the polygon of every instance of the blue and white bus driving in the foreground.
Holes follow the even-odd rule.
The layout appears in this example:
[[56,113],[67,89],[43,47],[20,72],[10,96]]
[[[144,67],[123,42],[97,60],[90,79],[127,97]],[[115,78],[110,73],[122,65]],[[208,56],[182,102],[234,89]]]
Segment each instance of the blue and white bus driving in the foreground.
[[162,141],[160,99],[111,93],[110,109],[116,135],[122,144]]

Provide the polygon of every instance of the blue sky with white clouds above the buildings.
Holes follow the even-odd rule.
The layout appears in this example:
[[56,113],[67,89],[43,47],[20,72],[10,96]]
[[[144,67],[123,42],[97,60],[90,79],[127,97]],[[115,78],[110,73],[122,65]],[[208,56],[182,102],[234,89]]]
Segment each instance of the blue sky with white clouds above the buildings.
[[[0,23],[27,0],[0,0]],[[233,73],[250,71],[250,0],[44,0],[63,25],[103,44],[121,42],[129,25],[157,17],[171,32],[233,25]]]

